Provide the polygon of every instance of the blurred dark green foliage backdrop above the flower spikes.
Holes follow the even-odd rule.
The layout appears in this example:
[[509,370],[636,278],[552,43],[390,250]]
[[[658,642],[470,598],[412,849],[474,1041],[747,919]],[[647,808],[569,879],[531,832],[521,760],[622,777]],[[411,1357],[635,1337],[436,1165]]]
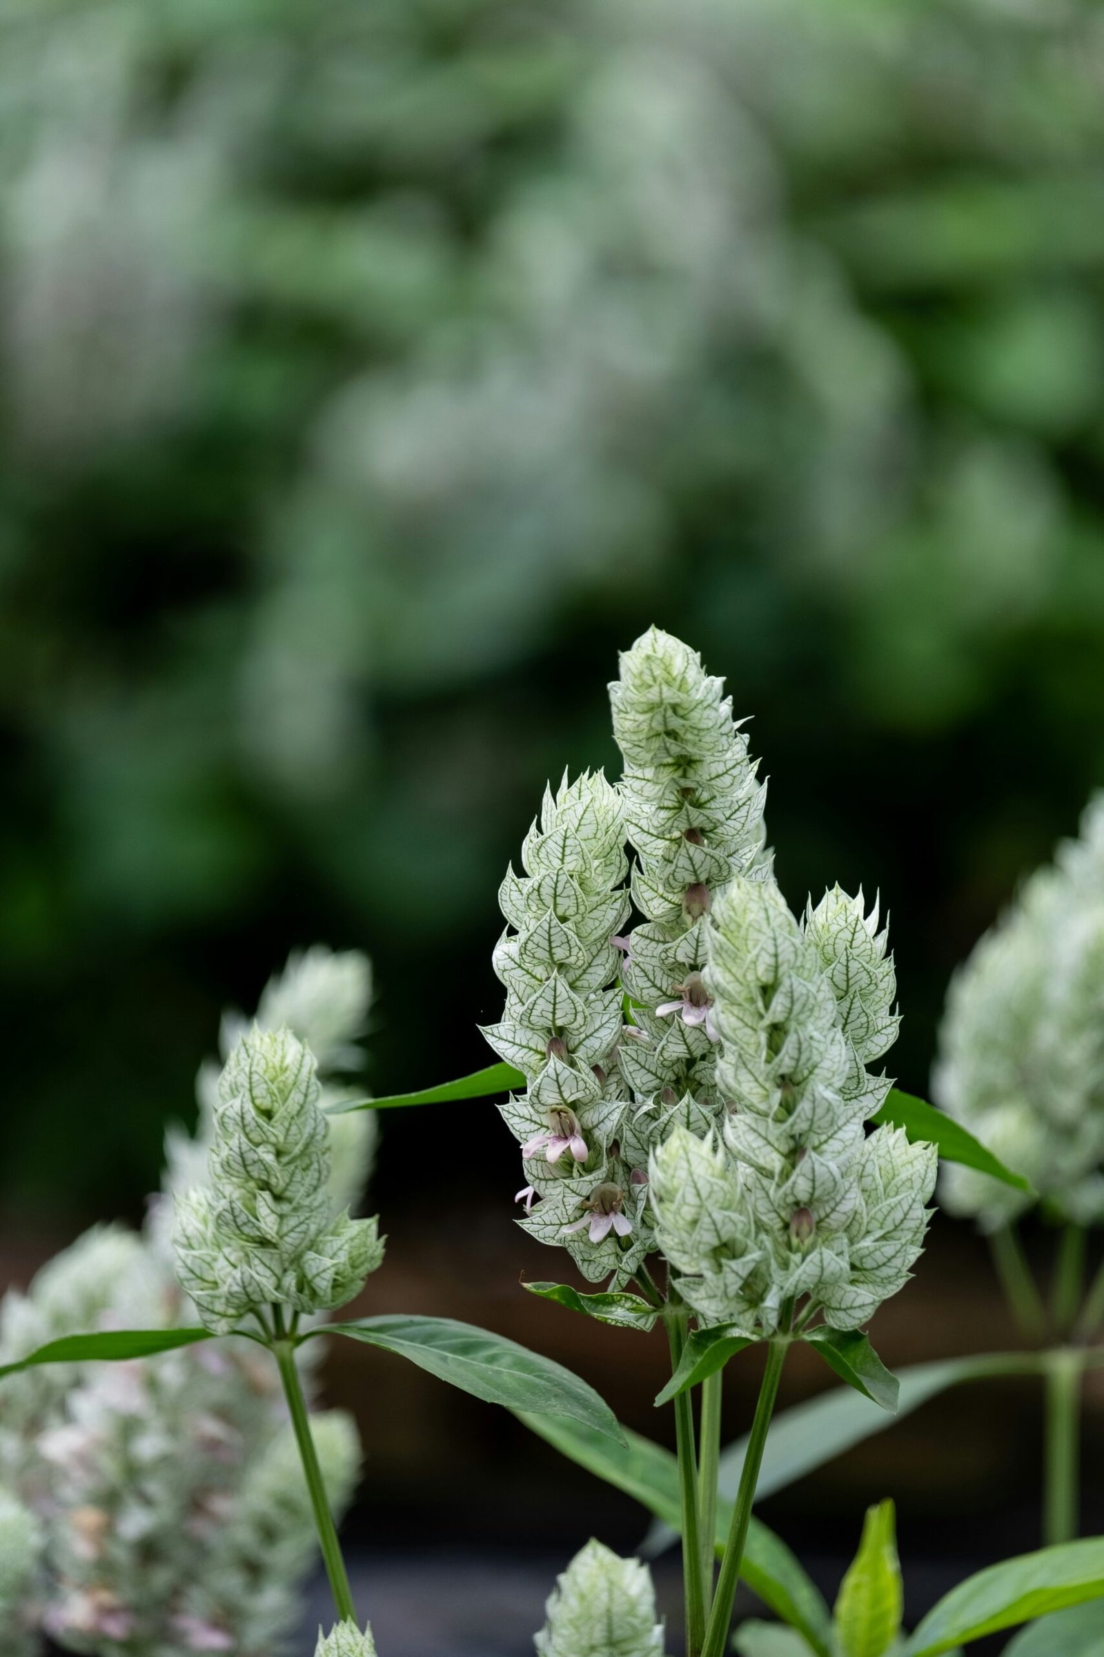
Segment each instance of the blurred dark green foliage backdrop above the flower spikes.
[[1102,83],[1089,0],[2,0],[5,1196],[149,1188],[314,936],[377,1085],[482,1062],[652,620],[924,1089],[1104,777]]

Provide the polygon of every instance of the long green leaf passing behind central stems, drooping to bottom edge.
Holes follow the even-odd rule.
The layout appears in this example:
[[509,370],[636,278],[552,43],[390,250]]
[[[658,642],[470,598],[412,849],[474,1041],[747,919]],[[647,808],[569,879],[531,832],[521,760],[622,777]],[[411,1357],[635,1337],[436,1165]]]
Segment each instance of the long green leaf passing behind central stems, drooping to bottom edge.
[[[650,1513],[677,1529],[680,1523],[679,1463],[670,1450],[624,1428],[624,1443],[601,1438],[574,1422],[546,1420],[516,1412],[518,1420],[553,1445],[561,1455],[636,1496]],[[717,1513],[717,1551],[725,1546],[732,1503]],[[748,1587],[791,1627],[799,1629],[818,1657],[829,1657],[831,1619],[818,1587],[793,1553],[758,1519],[751,1519],[740,1571]]]

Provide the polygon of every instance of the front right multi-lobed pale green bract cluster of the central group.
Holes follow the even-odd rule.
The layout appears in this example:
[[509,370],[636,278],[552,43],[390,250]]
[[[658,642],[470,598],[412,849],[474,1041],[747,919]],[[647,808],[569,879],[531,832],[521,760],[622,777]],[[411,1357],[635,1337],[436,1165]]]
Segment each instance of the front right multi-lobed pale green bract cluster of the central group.
[[854,1329],[909,1278],[935,1150],[864,1122],[895,1034],[892,963],[862,898],[798,921],[773,882],[738,878],[710,916],[707,984],[722,1037],[720,1137],[675,1132],[652,1155],[659,1244],[703,1324],[778,1329],[808,1296]]

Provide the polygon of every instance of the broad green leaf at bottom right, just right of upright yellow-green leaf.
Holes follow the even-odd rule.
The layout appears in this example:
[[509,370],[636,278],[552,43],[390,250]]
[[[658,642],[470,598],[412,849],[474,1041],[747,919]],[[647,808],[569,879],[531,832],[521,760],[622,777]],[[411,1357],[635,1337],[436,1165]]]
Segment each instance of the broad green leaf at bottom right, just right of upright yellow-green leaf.
[[983,1634],[1104,1596],[1104,1536],[1003,1559],[952,1587],[929,1611],[905,1657],[935,1657]]

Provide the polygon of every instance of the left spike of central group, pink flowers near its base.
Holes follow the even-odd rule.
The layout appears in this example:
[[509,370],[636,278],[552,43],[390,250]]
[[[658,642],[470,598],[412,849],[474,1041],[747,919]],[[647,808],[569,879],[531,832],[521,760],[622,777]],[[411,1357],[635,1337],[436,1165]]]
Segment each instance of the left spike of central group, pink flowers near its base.
[[[521,848],[523,875],[502,883],[510,923],[495,949],[506,1007],[483,1034],[525,1072],[523,1097],[502,1114],[521,1143],[531,1206],[523,1225],[569,1248],[581,1271],[624,1281],[646,1234],[644,1148],[621,1135],[622,1084],[616,1049],[622,1031],[617,949],[629,913],[621,802],[589,772],[556,795],[545,792],[540,824]],[[513,928],[513,930],[510,930]],[[639,1173],[632,1180],[634,1167]]]

